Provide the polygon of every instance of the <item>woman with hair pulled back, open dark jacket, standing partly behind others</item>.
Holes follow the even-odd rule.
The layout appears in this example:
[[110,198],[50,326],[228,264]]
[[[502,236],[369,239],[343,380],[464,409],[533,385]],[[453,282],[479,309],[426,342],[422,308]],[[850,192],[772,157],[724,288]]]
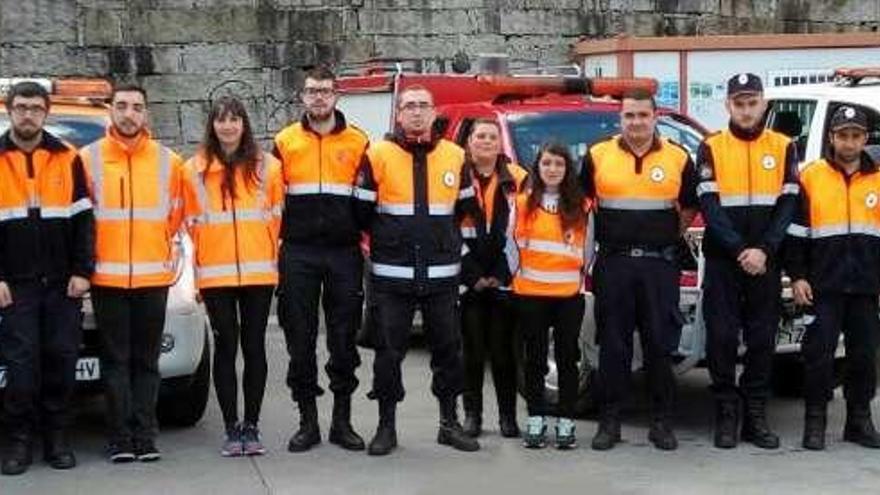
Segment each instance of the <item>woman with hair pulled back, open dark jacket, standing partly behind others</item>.
[[501,152],[501,129],[495,120],[479,119],[467,141],[466,173],[477,191],[479,210],[462,220],[461,326],[464,340],[464,430],[482,432],[483,376],[486,361],[498,403],[503,437],[518,437],[516,424],[516,354],[510,273],[504,257],[509,203],[527,172]]

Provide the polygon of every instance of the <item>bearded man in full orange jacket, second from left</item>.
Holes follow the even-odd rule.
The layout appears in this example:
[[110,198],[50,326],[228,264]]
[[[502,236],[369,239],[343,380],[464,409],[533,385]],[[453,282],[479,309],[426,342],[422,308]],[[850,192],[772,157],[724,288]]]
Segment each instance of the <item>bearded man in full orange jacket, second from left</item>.
[[114,463],[149,462],[160,458],[159,344],[175,275],[172,241],[183,198],[194,193],[183,160],[147,130],[143,88],[115,87],[110,117],[106,137],[80,151],[95,204],[92,303],[103,351],[108,455]]

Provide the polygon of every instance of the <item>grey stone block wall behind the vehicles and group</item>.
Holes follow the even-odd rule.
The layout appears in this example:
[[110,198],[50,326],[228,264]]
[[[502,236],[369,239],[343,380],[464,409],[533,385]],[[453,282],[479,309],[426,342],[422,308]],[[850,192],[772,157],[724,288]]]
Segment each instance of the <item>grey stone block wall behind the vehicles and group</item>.
[[581,37],[876,31],[880,0],[0,0],[0,75],[134,79],[187,150],[213,95],[261,138],[298,113],[303,66],[371,57],[446,69],[456,53],[568,61]]

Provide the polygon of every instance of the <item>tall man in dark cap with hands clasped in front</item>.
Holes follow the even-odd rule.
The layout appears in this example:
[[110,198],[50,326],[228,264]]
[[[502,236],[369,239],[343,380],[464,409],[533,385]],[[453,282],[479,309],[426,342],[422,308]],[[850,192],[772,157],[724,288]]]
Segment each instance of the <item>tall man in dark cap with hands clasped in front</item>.
[[[697,152],[715,446],[736,446],[742,416],[743,440],[775,449],[779,438],[767,424],[766,404],[781,306],[777,253],[797,209],[798,158],[788,137],[763,127],[767,104],[758,76],[730,78],[725,107],[728,128],[707,137]],[[737,383],[740,331],[746,353]]]

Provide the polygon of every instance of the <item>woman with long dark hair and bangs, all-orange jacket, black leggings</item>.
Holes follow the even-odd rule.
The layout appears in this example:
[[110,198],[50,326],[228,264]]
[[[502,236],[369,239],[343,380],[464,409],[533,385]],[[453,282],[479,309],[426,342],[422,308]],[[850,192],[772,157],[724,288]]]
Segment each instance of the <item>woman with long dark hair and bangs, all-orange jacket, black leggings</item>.
[[[281,164],[253,136],[247,111],[224,96],[187,164],[197,207],[187,225],[196,280],[214,331],[214,386],[226,424],[224,456],[265,452],[258,429],[266,388],[266,325],[278,283]],[[244,421],[238,420],[236,354],[244,355]]]

